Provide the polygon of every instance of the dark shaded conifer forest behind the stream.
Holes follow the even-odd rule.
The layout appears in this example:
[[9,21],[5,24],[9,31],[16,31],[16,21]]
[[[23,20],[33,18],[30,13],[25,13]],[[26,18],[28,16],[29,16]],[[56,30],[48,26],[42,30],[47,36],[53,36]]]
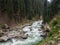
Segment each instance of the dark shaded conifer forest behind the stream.
[[60,0],[0,0],[1,20],[22,22],[24,19],[32,20],[33,17],[43,17],[44,23],[49,22],[60,10]]

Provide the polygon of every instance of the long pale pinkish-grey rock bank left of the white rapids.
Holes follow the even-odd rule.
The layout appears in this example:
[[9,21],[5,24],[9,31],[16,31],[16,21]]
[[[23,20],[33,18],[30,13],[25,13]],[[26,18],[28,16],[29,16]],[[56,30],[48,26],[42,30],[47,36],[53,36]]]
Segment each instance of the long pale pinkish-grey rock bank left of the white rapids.
[[27,39],[27,36],[25,36],[23,32],[12,30],[9,32],[1,33],[0,41],[7,41],[8,39],[16,38],[16,37]]

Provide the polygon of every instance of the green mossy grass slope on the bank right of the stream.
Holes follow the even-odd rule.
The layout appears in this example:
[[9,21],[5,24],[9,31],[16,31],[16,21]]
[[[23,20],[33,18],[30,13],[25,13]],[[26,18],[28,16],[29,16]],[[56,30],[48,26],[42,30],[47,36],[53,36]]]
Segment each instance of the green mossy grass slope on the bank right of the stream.
[[48,37],[42,40],[36,45],[60,45],[60,14],[54,17],[54,19],[49,22],[51,27]]

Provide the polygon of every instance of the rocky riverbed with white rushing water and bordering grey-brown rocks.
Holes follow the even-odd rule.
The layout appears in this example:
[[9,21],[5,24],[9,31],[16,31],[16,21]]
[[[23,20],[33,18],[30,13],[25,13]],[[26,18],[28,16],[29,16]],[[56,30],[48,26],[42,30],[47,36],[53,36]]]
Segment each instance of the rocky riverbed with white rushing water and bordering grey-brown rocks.
[[[43,20],[35,21],[31,25],[24,25],[15,29],[8,28],[0,30],[1,45],[33,45],[47,37],[48,28],[45,29]],[[45,29],[43,29],[43,28]],[[5,41],[5,43],[3,43]]]

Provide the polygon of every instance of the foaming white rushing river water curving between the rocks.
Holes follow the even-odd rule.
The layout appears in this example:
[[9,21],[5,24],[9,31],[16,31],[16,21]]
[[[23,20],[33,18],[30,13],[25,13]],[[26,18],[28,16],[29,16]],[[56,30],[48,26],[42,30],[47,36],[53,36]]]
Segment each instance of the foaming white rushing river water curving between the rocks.
[[43,37],[41,30],[42,20],[35,21],[31,26],[25,26],[22,30],[25,31],[25,35],[28,35],[28,38],[25,40],[11,39],[7,42],[0,42],[0,45],[33,45],[40,42]]

